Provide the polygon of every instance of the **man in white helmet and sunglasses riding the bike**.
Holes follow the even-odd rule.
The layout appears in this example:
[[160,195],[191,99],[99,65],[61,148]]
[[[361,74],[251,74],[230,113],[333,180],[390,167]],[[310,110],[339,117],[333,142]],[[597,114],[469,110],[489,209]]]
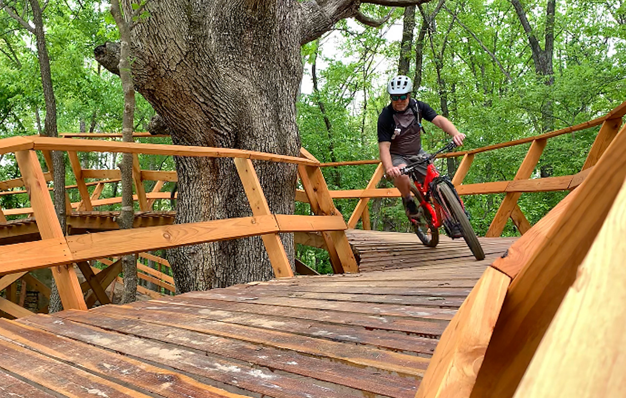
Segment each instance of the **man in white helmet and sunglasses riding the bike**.
[[[404,209],[409,217],[418,213],[418,207],[411,196],[411,181],[401,174],[400,169],[427,155],[422,149],[421,119],[447,132],[457,146],[461,146],[465,138],[465,134],[459,132],[451,121],[438,115],[426,102],[412,99],[411,91],[413,81],[408,76],[399,75],[391,79],[387,83],[391,104],[384,107],[378,117],[378,151],[382,167],[402,194]],[[426,174],[425,167],[419,170],[420,174]]]

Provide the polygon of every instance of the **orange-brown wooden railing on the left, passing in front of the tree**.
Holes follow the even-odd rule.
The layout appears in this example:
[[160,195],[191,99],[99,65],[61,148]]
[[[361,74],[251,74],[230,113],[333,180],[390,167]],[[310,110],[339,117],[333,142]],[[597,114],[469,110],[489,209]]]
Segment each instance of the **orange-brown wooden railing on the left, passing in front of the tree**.
[[[128,152],[133,154],[135,156],[133,177],[136,197],[142,210],[149,209],[149,201],[155,199],[155,196],[151,197],[150,194],[143,191],[143,177],[158,177],[160,181],[167,181],[167,179],[173,179],[173,174],[172,172],[146,172],[144,174],[138,167],[138,154],[232,157],[237,166],[245,194],[249,199],[253,215],[252,217],[190,224],[151,226],[64,236],[54,212],[46,175],[39,165],[36,151],[43,151],[46,158],[49,157],[49,151],[68,152],[76,176],[76,187],[81,195],[81,202],[77,205],[74,204],[74,207],[86,210],[93,209],[98,201],[95,199],[99,195],[98,191],[101,192],[98,187],[106,181],[98,182],[95,191],[90,194],[85,178],[90,178],[98,173],[81,169],[76,152]],[[85,276],[86,285],[93,290],[95,297],[91,300],[95,302],[95,299],[98,299],[100,302],[106,302],[103,285],[104,282],[113,281],[120,272],[116,268],[116,264],[119,262],[111,261],[105,270],[95,274],[89,264],[91,260],[102,261],[102,259],[119,257],[124,254],[255,235],[262,236],[275,276],[290,277],[294,274],[282,241],[280,241],[280,232],[319,231],[324,236],[329,248],[334,271],[358,271],[354,254],[352,254],[344,233],[346,223],[334,207],[326,182],[319,169],[319,162],[310,155],[309,157],[291,157],[237,149],[108,141],[96,143],[82,139],[49,137],[12,137],[0,140],[0,154],[8,152],[15,153],[22,176],[20,179],[5,182],[4,187],[25,187],[31,207],[22,209],[22,212],[23,214],[28,212],[34,215],[41,240],[0,246],[0,258],[3,259],[0,264],[0,275],[3,275],[0,278],[0,291],[23,277],[28,271],[51,267],[64,308],[86,309],[88,306],[83,299],[83,289],[81,289],[72,264],[77,264]],[[305,187],[307,200],[312,204],[312,212],[316,216],[272,214],[252,166],[252,159],[296,164],[300,180]],[[111,174],[114,173],[106,171],[102,175],[110,177]],[[100,175],[98,174],[98,176]],[[115,174],[112,179],[109,179],[109,182],[118,179],[118,177]],[[4,214],[13,213],[5,211],[4,213],[0,212],[0,214],[2,214],[0,221],[6,222]],[[144,278],[148,277],[144,276]],[[171,289],[173,286],[170,283],[163,287]],[[89,297],[88,301],[90,300]],[[24,315],[23,308],[2,298],[0,298],[0,310],[13,316]]]

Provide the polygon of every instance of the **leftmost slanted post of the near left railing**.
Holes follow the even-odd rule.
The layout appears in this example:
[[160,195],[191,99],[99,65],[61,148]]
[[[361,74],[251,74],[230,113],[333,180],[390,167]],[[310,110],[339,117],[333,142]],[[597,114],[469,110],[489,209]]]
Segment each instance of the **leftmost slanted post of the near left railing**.
[[[53,240],[58,245],[62,241],[63,231],[54,212],[54,205],[48,192],[48,186],[39,166],[39,159],[35,151],[15,152],[19,169],[24,179],[26,189],[29,191],[31,206],[35,214],[39,234],[43,241]],[[12,245],[13,246],[13,245]],[[66,249],[65,245],[61,244]],[[52,274],[59,296],[65,309],[87,309],[85,299],[80,289],[80,283],[76,277],[74,267],[69,265],[52,268]]]

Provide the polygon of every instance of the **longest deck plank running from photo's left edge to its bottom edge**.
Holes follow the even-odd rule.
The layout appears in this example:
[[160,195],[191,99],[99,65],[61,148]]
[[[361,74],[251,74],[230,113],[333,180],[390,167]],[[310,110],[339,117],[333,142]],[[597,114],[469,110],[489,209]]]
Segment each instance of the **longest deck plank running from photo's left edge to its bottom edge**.
[[[80,364],[83,369],[119,384],[130,384],[140,390],[159,391],[160,396],[244,398],[195,381],[176,371],[155,367],[130,356],[116,355],[115,352],[98,349],[85,342],[55,336],[26,324],[1,321],[0,331],[3,336],[8,336],[23,347],[69,364]],[[92,394],[84,396],[89,395],[97,397],[98,393],[92,391]]]

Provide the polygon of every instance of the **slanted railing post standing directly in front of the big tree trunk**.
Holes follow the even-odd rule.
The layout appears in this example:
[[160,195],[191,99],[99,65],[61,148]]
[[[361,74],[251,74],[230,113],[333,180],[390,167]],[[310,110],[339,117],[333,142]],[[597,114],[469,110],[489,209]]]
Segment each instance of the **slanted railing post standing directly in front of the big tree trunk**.
[[[234,160],[239,178],[244,186],[245,195],[248,197],[248,202],[252,208],[252,214],[254,216],[272,214],[267,204],[267,199],[265,199],[257,172],[254,170],[254,166],[252,166],[252,161],[240,158],[235,158]],[[280,227],[280,222],[278,224]],[[291,269],[287,252],[285,252],[285,247],[280,240],[279,234],[262,235],[261,239],[263,239],[265,250],[272,264],[274,276],[277,278],[294,276],[294,271]]]

